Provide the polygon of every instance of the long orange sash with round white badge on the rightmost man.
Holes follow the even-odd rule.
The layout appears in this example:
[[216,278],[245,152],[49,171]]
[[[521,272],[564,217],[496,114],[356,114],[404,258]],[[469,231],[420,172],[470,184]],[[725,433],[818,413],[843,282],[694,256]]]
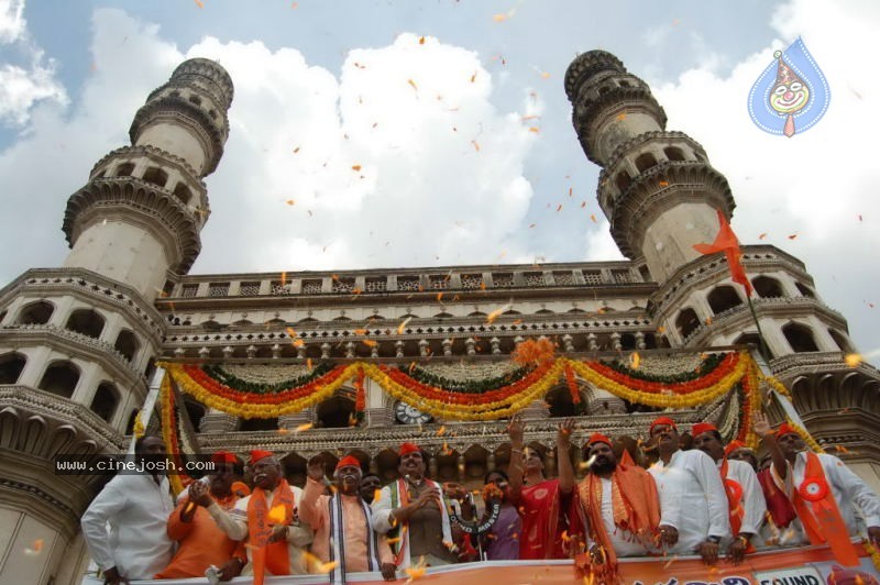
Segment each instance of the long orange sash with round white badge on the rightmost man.
[[812,544],[827,543],[835,559],[844,566],[859,564],[858,555],[849,542],[849,530],[815,453],[806,454],[804,481],[794,490],[792,504]]

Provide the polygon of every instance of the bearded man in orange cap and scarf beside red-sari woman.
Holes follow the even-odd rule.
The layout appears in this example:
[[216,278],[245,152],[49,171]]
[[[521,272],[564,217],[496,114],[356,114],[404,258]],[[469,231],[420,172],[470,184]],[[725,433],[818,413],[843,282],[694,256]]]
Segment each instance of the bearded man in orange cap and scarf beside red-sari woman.
[[[612,441],[593,433],[585,461],[590,474],[578,485],[570,534],[585,533],[591,564],[615,573],[617,556],[646,556],[659,534],[660,500],[651,475],[624,455],[618,463]],[[595,572],[595,571],[594,571]]]

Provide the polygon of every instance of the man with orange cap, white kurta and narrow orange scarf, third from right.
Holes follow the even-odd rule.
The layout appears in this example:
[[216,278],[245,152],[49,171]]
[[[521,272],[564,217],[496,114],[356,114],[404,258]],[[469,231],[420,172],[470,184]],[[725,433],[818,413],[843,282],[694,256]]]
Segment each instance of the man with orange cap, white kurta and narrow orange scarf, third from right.
[[724,489],[727,493],[728,519],[733,536],[733,540],[724,544],[734,564],[739,564],[750,549],[752,539],[760,533],[767,516],[763,490],[751,465],[744,461],[727,459],[717,427],[711,422],[698,422],[691,429],[691,434],[694,438],[694,446],[712,457],[721,472]]

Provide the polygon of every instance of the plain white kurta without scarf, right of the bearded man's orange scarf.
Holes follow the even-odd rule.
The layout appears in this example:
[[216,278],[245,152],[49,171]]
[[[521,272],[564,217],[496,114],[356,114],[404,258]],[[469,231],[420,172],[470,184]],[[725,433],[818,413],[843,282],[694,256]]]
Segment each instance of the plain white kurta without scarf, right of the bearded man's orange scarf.
[[700,450],[675,451],[669,465],[658,461],[648,470],[660,496],[660,525],[679,531],[668,552],[693,554],[708,537],[727,538],[727,494],[712,457]]

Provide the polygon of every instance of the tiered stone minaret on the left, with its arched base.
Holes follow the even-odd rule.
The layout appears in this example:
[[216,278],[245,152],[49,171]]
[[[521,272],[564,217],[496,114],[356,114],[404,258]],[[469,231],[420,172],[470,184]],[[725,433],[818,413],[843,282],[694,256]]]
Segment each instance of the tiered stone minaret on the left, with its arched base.
[[177,67],[134,115],[132,145],[70,196],[64,267],[0,290],[0,583],[79,582],[79,518],[101,479],[57,476],[52,460],[128,446],[165,333],[154,300],[201,249],[202,178],[222,156],[232,95],[215,62]]

